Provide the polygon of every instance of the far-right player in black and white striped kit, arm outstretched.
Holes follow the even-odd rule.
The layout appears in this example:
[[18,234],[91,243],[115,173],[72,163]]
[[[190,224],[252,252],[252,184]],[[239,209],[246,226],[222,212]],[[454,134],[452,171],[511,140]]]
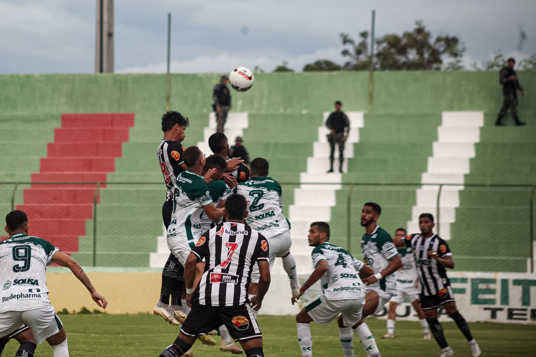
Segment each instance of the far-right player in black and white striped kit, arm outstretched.
[[425,313],[432,335],[441,347],[440,357],[454,355],[452,348],[446,342],[443,327],[437,320],[437,309],[441,307],[456,322],[458,329],[464,334],[471,347],[473,357],[477,357],[480,355],[480,347],[471,335],[467,321],[458,312],[450,280],[445,271],[445,268],[454,269],[452,253],[448,244],[432,232],[434,226],[434,216],[423,213],[419,216],[421,233],[410,234],[405,239],[393,239],[393,243],[397,248],[406,247],[413,250],[421,286],[421,309]]

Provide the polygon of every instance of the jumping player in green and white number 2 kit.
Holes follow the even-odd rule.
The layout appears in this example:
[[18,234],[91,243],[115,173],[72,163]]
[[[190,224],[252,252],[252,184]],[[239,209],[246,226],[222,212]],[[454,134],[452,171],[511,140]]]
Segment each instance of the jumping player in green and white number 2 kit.
[[[281,185],[278,181],[268,177],[269,164],[262,157],[254,158],[250,165],[251,178],[240,183],[233,189],[233,193],[241,194],[248,201],[249,216],[246,223],[256,231],[263,234],[270,245],[270,270],[276,257],[283,261],[283,268],[291,279],[292,295],[300,291],[297,279],[296,261],[290,249],[292,245],[291,225],[283,215]],[[258,265],[251,272],[249,294],[257,293],[259,282]]]

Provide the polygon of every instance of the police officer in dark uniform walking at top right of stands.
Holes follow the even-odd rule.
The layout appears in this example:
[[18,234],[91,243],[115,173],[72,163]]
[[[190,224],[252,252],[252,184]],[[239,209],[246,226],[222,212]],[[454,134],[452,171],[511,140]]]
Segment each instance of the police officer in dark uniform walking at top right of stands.
[[519,84],[516,71],[513,70],[513,66],[515,64],[515,59],[511,57],[508,58],[508,65],[499,73],[499,81],[503,85],[504,102],[497,117],[497,121],[495,122],[496,126],[504,126],[502,119],[506,115],[508,109],[510,109],[510,112],[512,113],[513,120],[516,121],[516,126],[526,124],[523,121],[519,121],[519,117],[517,115],[517,90],[521,92],[521,96],[524,96],[525,92]]

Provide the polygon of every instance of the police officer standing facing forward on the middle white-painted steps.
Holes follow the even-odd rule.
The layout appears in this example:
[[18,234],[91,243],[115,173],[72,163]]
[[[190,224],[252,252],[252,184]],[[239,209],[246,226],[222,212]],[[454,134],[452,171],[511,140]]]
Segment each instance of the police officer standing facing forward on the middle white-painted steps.
[[348,140],[348,132],[350,130],[350,120],[346,114],[340,109],[343,107],[343,103],[335,102],[335,111],[327,117],[326,126],[330,129],[330,133],[327,134],[327,141],[330,143],[330,171],[333,172],[333,160],[335,159],[335,145],[339,146],[339,172],[343,172],[344,162],[344,143]]

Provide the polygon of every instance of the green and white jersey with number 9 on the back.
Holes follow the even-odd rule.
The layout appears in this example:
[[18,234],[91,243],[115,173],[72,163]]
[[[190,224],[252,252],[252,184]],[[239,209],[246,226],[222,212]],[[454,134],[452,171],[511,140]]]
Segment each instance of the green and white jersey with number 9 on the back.
[[24,233],[0,242],[0,313],[50,306],[47,265],[59,249]]

